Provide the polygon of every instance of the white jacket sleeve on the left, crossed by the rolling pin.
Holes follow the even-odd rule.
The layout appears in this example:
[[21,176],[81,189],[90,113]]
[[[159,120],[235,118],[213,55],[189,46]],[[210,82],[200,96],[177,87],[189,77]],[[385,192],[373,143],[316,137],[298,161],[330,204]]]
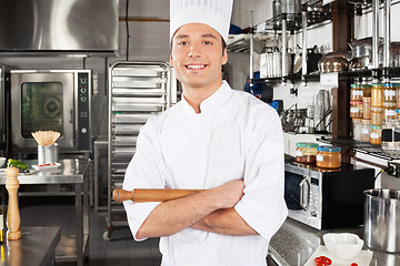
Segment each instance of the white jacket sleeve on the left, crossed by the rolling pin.
[[[150,122],[150,121],[149,121]],[[136,153],[128,165],[123,190],[132,191],[133,188],[164,188],[163,163],[160,151],[157,149],[157,137],[154,131],[149,130],[149,122],[140,130]],[[160,203],[133,203],[123,202],[127,212],[129,227],[133,238],[144,219],[151,211]]]

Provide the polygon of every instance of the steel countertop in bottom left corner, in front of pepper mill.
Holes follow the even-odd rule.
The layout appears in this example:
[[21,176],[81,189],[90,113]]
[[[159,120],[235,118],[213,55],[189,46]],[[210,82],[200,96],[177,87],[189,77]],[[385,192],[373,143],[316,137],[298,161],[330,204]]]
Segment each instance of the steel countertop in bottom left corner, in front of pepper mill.
[[61,237],[60,227],[22,227],[21,239],[0,246],[0,265],[49,265]]

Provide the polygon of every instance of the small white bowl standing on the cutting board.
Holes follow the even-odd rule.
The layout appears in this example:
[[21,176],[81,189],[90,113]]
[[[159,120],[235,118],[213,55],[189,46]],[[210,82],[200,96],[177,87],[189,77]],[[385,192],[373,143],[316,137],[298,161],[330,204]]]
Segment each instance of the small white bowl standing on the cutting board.
[[356,257],[363,246],[363,241],[358,235],[349,233],[324,234],[323,243],[333,257],[343,260]]

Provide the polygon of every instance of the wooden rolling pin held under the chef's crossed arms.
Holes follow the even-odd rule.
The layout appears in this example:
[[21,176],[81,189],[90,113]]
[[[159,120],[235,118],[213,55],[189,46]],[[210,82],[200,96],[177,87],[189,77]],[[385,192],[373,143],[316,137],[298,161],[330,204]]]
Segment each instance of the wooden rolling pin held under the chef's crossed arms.
[[144,202],[166,202],[179,197],[189,196],[204,190],[169,190],[169,188],[134,188],[133,191],[124,191],[116,188],[112,192],[114,202],[132,201],[134,203]]

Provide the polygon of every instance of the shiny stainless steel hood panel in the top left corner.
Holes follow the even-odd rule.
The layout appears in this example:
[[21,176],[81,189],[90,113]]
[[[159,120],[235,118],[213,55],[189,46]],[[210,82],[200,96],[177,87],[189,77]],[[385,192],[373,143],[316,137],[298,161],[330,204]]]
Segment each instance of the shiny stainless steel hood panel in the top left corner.
[[118,0],[2,0],[1,52],[118,51]]

